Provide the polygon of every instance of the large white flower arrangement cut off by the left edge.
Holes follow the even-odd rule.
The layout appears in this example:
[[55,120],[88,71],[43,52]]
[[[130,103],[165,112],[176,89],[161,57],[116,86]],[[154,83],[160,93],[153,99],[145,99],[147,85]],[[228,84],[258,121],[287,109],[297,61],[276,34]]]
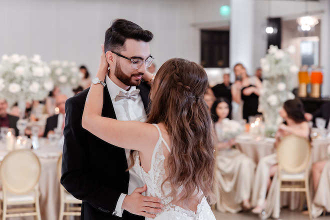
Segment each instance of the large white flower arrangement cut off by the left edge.
[[42,100],[53,83],[50,68],[40,55],[3,55],[0,61],[0,97],[10,104],[22,100]]

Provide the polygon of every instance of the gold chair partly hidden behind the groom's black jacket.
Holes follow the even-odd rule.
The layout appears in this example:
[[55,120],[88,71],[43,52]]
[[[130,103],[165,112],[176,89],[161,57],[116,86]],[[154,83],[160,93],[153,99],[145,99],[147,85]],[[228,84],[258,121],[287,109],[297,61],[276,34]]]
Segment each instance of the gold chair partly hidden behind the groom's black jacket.
[[[60,155],[57,160],[57,177],[59,181],[61,177],[61,169],[62,169],[62,155]],[[60,193],[60,205],[59,205],[58,219],[62,220],[64,215],[66,215],[66,219],[68,219],[69,215],[80,216],[81,206],[70,206],[70,205],[81,204],[82,201],[73,197],[73,195],[68,193],[61,184],[59,184],[59,193]]]

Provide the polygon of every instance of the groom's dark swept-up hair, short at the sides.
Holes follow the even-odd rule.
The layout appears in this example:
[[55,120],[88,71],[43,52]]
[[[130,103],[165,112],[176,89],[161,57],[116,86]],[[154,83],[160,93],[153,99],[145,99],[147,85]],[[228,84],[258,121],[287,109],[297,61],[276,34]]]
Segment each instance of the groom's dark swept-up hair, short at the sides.
[[126,19],[115,19],[105,31],[104,51],[120,52],[127,38],[149,42],[153,34]]

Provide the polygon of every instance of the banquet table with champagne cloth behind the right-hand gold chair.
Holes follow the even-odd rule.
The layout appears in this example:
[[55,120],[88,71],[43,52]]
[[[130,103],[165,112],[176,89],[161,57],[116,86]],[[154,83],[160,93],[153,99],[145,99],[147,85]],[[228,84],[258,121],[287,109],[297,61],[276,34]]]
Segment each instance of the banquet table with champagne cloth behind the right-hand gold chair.
[[[248,157],[252,158],[255,164],[260,158],[275,152],[275,139],[264,138],[260,136],[251,136],[249,134],[241,134],[235,138],[235,147]],[[330,138],[314,138],[311,141],[311,155],[309,165],[319,160],[327,158],[327,147],[330,144]],[[309,188],[312,192],[311,173],[309,178]],[[313,193],[310,194],[311,198]],[[296,209],[299,205],[300,193],[298,192],[281,192],[281,206],[288,206],[291,210]]]

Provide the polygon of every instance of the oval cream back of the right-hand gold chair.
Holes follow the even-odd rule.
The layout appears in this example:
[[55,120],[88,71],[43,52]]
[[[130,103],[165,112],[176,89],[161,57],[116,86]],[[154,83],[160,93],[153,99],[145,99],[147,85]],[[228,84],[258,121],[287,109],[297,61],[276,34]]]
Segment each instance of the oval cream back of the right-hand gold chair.
[[293,134],[283,137],[277,146],[277,161],[281,169],[288,173],[303,171],[309,162],[310,143]]

